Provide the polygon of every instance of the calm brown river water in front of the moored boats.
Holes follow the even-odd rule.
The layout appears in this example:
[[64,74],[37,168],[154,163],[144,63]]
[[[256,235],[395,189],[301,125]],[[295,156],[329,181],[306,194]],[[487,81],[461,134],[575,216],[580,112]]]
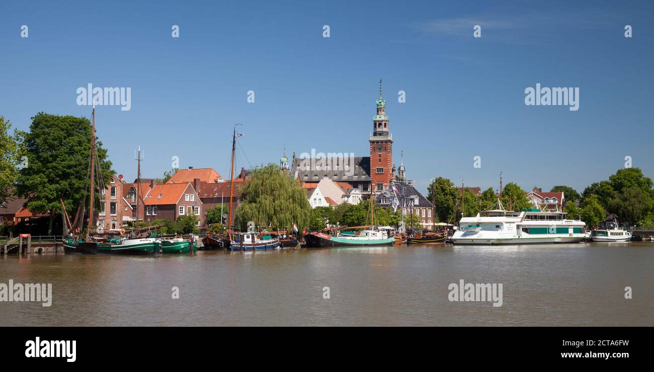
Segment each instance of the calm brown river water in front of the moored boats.
[[[0,326],[654,326],[651,242],[0,256],[10,279],[52,306],[0,302]],[[449,301],[460,280],[502,306]]]

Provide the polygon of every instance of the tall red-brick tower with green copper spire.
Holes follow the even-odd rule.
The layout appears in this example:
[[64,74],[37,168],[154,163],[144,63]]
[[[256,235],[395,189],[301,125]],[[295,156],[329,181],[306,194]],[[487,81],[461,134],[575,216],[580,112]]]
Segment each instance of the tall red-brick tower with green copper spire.
[[393,173],[393,137],[388,131],[386,101],[381,97],[381,80],[379,80],[377,114],[373,116],[372,125],[373,131],[370,136],[370,178],[372,178],[372,190],[380,192],[388,186]]

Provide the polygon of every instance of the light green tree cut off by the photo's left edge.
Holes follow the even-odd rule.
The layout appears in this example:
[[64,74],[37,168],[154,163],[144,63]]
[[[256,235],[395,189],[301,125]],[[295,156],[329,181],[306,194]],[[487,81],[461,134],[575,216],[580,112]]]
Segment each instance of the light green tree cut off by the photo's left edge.
[[18,177],[20,135],[9,134],[11,123],[0,116],[0,204],[7,201]]

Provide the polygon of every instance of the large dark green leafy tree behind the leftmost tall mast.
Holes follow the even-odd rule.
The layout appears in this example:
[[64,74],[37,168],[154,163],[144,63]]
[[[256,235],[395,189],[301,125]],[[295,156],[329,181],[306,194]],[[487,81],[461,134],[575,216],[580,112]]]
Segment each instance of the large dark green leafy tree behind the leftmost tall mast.
[[[30,211],[50,212],[50,235],[55,214],[61,212],[60,198],[67,211],[74,214],[82,195],[88,194],[91,122],[88,118],[39,112],[32,118],[23,143],[21,155],[27,156],[28,165],[19,171],[16,194],[27,197]],[[99,141],[95,141],[95,150],[102,178],[109,182],[111,161],[107,160],[107,150]],[[98,190],[96,194],[97,201]]]

